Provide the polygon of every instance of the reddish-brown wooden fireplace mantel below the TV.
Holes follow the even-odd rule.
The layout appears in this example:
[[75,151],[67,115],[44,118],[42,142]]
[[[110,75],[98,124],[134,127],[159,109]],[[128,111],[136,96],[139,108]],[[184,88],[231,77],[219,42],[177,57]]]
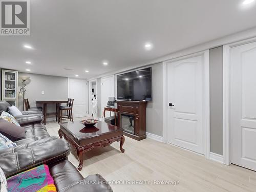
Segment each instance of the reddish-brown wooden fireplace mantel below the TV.
[[134,133],[123,132],[125,136],[136,140],[146,138],[146,101],[117,100],[118,126],[121,126],[122,115],[134,117]]

